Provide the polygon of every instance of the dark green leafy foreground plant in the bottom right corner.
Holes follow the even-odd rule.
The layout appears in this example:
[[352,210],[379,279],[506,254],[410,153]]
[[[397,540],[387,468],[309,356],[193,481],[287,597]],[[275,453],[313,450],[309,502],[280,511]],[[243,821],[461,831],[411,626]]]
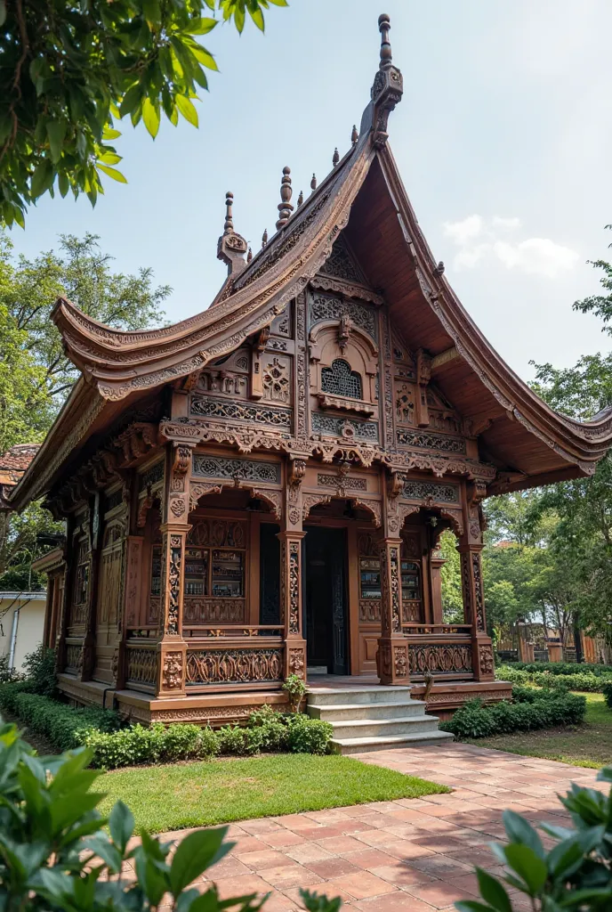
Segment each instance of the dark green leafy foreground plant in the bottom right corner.
[[[612,782],[612,767],[597,779]],[[521,906],[529,897],[533,912],[609,912],[612,908],[612,791],[606,796],[596,789],[573,784],[559,801],[571,814],[573,828],[540,824],[555,841],[546,851],[542,840],[525,817],[505,811],[506,845],[492,848],[507,874],[495,877],[476,868],[484,902],[463,900],[454,906],[459,912],[513,912],[513,899],[504,883],[519,890]]]

